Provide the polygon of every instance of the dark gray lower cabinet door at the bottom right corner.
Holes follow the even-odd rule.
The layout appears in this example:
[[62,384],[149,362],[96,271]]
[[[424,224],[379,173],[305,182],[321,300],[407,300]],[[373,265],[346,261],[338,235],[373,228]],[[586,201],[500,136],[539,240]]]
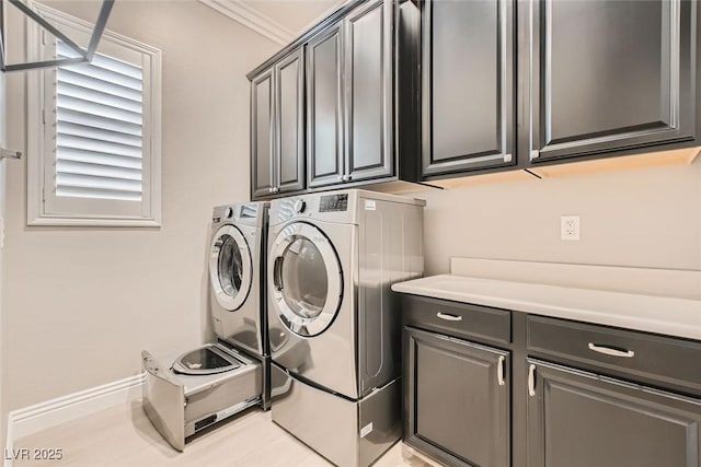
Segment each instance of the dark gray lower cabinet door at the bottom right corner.
[[528,363],[528,467],[701,466],[701,400]]

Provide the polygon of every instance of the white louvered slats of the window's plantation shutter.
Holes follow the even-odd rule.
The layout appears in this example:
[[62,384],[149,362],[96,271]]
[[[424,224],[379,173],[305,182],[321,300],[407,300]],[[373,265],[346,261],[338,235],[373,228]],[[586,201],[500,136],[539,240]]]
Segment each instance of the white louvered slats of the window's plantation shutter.
[[[58,58],[74,51],[57,42]],[[141,201],[143,71],[95,54],[56,72],[57,197]]]

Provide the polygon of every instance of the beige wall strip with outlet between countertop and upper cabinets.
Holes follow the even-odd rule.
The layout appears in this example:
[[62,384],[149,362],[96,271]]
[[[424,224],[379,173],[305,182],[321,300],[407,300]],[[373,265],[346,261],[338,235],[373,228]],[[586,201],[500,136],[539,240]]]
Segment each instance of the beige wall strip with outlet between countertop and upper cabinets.
[[[416,194],[426,273],[451,256],[701,270],[701,156],[691,165]],[[560,240],[578,214],[582,241]]]

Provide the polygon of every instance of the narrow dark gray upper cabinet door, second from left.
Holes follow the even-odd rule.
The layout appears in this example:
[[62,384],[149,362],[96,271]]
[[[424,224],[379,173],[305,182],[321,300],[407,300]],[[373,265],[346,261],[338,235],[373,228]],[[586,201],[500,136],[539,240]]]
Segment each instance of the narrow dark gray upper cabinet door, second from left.
[[275,66],[278,192],[304,189],[304,60],[298,48]]

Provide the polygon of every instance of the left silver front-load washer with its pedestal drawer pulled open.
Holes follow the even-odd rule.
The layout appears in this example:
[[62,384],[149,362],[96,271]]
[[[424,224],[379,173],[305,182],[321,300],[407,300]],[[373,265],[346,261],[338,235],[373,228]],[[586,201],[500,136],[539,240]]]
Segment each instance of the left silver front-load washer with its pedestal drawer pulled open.
[[217,341],[158,358],[141,352],[143,410],[179,451],[187,437],[248,407],[269,408],[267,212],[266,202],[214,209],[207,260]]

